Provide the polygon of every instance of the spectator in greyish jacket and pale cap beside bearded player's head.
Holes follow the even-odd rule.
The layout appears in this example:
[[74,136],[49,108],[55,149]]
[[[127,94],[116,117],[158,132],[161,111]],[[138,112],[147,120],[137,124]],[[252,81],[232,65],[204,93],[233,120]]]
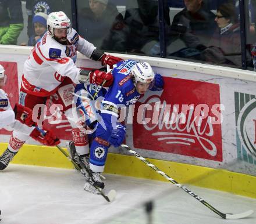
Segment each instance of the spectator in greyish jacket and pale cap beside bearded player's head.
[[83,38],[99,49],[112,50],[112,38],[120,30],[123,16],[108,0],[89,0],[89,7],[80,10],[78,24]]

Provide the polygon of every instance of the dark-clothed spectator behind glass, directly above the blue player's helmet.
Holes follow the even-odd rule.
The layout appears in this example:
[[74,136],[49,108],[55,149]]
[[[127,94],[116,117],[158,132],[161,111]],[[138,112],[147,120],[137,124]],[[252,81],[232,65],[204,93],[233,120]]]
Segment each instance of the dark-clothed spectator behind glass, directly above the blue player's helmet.
[[[152,55],[152,45],[159,42],[158,1],[137,0],[138,8],[127,9],[118,48],[127,53]],[[165,7],[165,20],[170,25],[169,8]],[[159,47],[159,45],[158,45]]]

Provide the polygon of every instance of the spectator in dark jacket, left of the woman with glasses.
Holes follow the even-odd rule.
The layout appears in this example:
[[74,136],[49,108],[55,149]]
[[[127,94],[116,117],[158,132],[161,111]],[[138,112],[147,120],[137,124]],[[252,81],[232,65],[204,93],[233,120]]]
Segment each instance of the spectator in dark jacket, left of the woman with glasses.
[[203,0],[184,0],[186,8],[177,13],[172,21],[173,39],[180,38],[189,48],[201,50],[208,46],[216,28],[215,15]]

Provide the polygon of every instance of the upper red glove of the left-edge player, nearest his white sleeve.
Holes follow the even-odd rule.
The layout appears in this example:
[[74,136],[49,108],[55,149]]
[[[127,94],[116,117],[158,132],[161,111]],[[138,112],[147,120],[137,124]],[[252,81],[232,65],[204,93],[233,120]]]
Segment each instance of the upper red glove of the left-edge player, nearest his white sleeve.
[[15,120],[18,120],[29,127],[34,124],[34,121],[32,120],[33,111],[28,107],[16,103],[13,111],[15,113]]

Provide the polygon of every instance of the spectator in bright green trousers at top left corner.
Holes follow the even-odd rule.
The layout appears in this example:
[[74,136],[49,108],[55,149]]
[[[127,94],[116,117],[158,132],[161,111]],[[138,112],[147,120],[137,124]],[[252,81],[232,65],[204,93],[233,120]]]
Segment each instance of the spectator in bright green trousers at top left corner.
[[17,44],[23,30],[20,0],[0,0],[0,44]]

